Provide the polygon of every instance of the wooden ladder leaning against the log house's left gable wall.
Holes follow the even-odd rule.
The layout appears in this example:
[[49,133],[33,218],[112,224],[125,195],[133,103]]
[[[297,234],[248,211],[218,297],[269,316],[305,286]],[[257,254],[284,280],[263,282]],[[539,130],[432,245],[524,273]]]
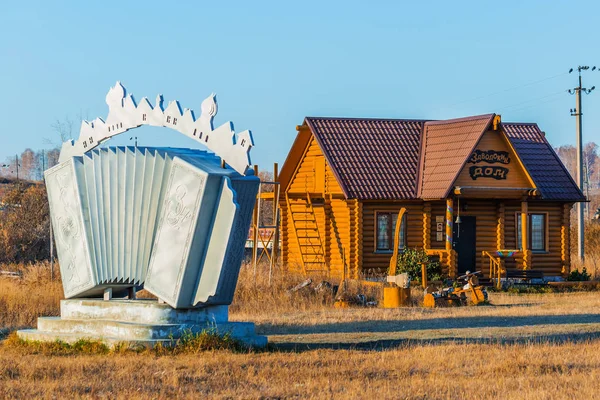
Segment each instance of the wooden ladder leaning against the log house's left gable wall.
[[319,225],[315,214],[314,205],[307,193],[306,198],[297,199],[301,203],[291,203],[286,197],[291,222],[294,227],[296,243],[300,250],[300,260],[304,274],[324,273],[329,275],[325,261],[323,240],[319,233]]

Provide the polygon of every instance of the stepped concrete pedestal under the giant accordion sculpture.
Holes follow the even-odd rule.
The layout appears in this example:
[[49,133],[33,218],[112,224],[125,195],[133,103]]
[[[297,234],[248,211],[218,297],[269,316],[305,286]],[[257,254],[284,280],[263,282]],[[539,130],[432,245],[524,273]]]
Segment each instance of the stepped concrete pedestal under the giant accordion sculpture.
[[227,306],[176,310],[156,300],[62,300],[60,317],[38,318],[37,329],[18,331],[25,340],[75,342],[101,340],[107,345],[129,343],[152,347],[173,344],[184,332],[214,329],[229,333],[251,347],[267,345],[251,322],[229,322]]

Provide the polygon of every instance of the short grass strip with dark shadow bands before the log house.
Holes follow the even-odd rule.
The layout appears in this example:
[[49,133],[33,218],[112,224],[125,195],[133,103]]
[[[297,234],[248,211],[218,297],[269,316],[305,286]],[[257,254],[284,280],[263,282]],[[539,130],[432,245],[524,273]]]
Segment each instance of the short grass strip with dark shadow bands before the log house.
[[[404,344],[530,343],[600,337],[600,294],[490,294],[492,305],[330,309],[254,317],[280,349],[384,349]],[[233,318],[243,315],[233,315]]]

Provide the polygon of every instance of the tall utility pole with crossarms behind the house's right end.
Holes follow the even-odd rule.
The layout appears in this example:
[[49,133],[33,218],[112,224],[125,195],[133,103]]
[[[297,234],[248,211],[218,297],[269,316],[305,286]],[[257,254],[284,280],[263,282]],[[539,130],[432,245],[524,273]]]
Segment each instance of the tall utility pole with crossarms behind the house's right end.
[[[584,179],[583,179],[583,135],[582,135],[582,121],[583,110],[581,107],[581,92],[590,94],[596,86],[592,86],[590,89],[584,88],[581,84],[581,71],[587,71],[590,69],[587,65],[580,65],[577,67],[579,75],[579,85],[576,88],[569,89],[569,94],[575,95],[575,109],[571,109],[571,115],[575,117],[575,129],[577,130],[577,186],[582,193],[584,193]],[[592,67],[592,71],[595,71],[596,67]],[[573,72],[573,68],[569,70],[569,73]],[[585,229],[584,229],[584,204],[577,203],[577,255],[579,260],[583,262],[585,259]]]

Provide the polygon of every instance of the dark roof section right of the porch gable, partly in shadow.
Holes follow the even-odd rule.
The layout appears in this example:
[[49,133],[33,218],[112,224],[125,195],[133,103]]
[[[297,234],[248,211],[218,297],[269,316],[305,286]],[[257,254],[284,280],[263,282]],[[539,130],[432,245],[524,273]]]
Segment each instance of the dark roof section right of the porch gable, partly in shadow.
[[537,124],[502,123],[502,128],[544,200],[585,201],[585,196]]

